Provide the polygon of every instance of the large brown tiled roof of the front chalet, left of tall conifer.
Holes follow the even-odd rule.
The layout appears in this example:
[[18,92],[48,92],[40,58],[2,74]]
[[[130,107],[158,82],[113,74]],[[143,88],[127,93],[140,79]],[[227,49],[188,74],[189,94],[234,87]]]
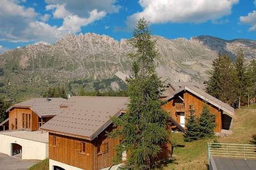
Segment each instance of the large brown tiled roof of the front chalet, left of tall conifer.
[[126,110],[127,102],[127,97],[73,96],[61,104],[68,108],[42,125],[41,130],[93,140],[112,123],[111,116]]

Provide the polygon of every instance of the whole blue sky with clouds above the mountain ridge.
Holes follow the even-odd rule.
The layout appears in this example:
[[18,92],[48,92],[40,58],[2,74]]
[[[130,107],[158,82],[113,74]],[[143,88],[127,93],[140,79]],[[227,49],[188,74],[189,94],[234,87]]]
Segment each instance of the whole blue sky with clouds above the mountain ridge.
[[131,38],[138,18],[169,39],[209,35],[256,40],[256,0],[1,0],[0,53],[53,44],[66,33]]

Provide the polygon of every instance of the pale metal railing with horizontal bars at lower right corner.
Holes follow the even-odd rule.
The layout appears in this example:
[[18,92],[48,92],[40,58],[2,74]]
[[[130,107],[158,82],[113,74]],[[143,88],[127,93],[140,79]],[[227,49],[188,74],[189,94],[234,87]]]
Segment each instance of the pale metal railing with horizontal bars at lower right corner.
[[256,145],[208,143],[207,154],[209,162],[211,155],[213,157],[256,159]]

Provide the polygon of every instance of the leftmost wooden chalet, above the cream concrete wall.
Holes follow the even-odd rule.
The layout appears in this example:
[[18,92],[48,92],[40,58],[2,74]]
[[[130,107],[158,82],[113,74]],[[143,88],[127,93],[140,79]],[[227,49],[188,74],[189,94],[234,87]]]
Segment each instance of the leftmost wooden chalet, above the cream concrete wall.
[[63,98],[33,98],[7,109],[9,118],[2,122],[4,130],[37,131],[41,125],[60,113]]

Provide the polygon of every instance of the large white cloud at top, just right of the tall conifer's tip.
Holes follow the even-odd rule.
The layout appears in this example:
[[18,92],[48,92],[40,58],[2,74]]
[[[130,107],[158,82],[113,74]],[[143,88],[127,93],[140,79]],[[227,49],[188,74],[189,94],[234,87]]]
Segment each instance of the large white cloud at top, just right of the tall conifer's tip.
[[142,12],[134,13],[126,20],[129,27],[134,26],[139,18],[145,17],[155,23],[202,23],[217,20],[229,15],[231,8],[239,0],[140,0]]

